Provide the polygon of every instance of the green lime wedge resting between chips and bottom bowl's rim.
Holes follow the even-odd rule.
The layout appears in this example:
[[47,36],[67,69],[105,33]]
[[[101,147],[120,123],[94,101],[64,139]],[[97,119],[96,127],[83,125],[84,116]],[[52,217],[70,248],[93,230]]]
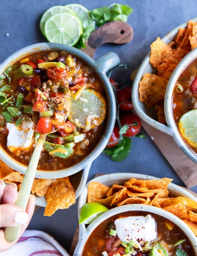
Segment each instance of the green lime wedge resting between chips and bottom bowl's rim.
[[104,205],[94,202],[87,203],[81,208],[79,224],[90,224],[105,211],[108,209]]

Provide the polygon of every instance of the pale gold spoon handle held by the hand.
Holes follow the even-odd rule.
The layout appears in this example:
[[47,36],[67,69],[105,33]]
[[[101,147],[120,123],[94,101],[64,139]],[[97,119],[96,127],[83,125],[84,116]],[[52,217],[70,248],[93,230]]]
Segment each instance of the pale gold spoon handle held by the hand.
[[[45,140],[45,134],[41,134],[37,141],[31,160],[29,162],[27,171],[25,173],[25,177],[23,179],[21,188],[18,193],[17,200],[14,203],[15,205],[18,205],[19,207],[21,207],[24,211],[26,210],[26,207],[28,204],[28,200],[31,193],[32,184],[34,181],[34,177],[37,170],[38,161],[40,158],[44,140]],[[20,230],[21,230],[21,225],[17,227],[6,227],[5,233],[4,233],[6,240],[10,243],[14,242],[19,237]]]

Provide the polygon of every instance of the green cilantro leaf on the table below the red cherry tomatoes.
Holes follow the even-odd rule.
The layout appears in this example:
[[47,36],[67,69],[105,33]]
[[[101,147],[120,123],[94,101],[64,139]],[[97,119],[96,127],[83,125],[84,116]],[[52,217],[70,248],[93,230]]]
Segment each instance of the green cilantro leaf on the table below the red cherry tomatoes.
[[103,153],[110,156],[112,160],[121,162],[131,152],[132,139],[123,136],[120,143],[113,147],[107,147],[103,150]]

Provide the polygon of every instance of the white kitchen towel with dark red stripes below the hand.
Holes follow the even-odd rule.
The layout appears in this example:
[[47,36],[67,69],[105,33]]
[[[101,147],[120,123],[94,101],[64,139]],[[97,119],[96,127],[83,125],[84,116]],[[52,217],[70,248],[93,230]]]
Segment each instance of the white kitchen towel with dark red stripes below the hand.
[[67,251],[49,234],[26,230],[19,241],[0,256],[69,256]]

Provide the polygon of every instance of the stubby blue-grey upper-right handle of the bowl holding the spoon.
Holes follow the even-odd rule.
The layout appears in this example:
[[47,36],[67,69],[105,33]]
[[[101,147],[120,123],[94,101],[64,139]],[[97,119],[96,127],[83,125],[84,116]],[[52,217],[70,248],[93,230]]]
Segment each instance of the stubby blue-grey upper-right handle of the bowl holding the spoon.
[[120,58],[115,52],[108,52],[94,61],[94,67],[106,73],[120,63]]

